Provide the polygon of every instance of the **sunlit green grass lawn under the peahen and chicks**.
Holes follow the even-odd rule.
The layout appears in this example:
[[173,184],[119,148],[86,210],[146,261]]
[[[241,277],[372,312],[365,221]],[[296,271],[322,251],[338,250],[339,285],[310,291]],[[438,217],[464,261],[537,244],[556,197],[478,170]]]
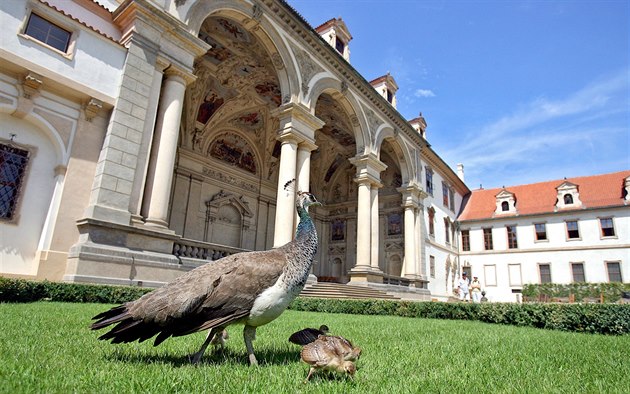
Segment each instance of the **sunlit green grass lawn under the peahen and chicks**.
[[[205,333],[158,347],[111,345],[89,330],[103,304],[0,304],[3,393],[630,393],[630,336],[480,322],[286,311],[258,329],[249,367],[242,327],[200,365]],[[355,380],[315,375],[289,335],[327,324],[363,348]]]

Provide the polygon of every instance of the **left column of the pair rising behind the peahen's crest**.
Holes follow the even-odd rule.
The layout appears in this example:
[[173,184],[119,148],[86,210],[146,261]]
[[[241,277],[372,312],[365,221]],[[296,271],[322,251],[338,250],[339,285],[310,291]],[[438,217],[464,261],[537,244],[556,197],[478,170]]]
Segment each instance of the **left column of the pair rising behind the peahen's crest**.
[[281,142],[274,248],[282,246],[293,239],[295,190],[297,190],[297,185],[294,185],[289,190],[284,190],[284,186],[291,179],[295,179],[298,142],[290,135],[283,136]]

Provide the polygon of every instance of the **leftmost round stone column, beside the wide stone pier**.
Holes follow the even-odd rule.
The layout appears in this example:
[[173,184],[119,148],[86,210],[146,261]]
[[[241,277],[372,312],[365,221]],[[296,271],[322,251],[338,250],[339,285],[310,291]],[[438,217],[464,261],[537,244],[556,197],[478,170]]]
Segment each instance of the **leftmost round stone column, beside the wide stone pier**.
[[153,187],[149,197],[146,224],[167,228],[168,204],[173,182],[173,169],[179,138],[179,124],[184,104],[186,85],[194,76],[171,66],[165,71],[166,81],[162,89],[156,123],[156,155],[152,157],[149,177]]

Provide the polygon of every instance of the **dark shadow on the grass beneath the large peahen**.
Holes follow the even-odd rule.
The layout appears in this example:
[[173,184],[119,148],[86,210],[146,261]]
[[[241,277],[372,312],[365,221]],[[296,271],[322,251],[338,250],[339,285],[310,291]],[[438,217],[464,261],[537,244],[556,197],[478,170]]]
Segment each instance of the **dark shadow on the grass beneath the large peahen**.
[[[263,349],[255,352],[258,365],[282,365],[299,362],[299,352],[287,349]],[[131,349],[116,349],[105,356],[106,359],[115,362],[135,364],[171,364],[173,367],[192,366],[192,355],[176,355],[169,353],[139,353]],[[249,365],[247,352],[232,351],[231,349],[218,350],[206,353],[197,366],[210,364]]]

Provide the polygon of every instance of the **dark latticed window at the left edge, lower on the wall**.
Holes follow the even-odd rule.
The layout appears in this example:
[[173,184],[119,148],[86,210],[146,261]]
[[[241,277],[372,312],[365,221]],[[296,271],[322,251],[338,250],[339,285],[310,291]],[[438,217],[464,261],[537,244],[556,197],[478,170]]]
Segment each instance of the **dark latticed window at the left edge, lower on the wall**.
[[13,220],[29,153],[11,145],[0,144],[0,219]]

